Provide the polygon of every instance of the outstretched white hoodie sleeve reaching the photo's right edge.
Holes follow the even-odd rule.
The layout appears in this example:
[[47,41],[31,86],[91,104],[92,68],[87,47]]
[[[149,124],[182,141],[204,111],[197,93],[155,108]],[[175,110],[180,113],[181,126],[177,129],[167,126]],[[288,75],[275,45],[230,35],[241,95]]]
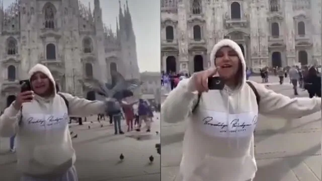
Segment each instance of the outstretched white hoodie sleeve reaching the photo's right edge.
[[296,119],[321,110],[321,98],[289,98],[252,81],[260,96],[259,112],[267,116]]

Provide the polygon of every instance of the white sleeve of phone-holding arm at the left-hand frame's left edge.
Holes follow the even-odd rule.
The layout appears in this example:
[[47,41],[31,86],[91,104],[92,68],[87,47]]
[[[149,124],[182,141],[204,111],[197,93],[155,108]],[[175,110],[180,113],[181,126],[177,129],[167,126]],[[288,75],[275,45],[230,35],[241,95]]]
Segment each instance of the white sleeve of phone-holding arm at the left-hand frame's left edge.
[[[13,102],[14,104],[15,102]],[[17,133],[18,122],[20,119],[20,110],[16,110],[11,104],[5,109],[4,114],[0,116],[0,136],[11,137]]]

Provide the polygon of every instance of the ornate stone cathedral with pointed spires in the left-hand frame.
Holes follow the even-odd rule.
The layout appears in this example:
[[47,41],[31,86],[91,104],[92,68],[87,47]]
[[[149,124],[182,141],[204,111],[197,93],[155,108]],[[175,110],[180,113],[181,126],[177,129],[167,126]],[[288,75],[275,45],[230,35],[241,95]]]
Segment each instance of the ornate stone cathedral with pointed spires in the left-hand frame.
[[60,89],[95,99],[79,80],[111,81],[110,71],[139,78],[135,35],[128,4],[119,2],[116,32],[102,21],[100,0],[94,10],[78,0],[18,0],[0,7],[0,108],[20,92],[19,80],[37,63],[46,65]]

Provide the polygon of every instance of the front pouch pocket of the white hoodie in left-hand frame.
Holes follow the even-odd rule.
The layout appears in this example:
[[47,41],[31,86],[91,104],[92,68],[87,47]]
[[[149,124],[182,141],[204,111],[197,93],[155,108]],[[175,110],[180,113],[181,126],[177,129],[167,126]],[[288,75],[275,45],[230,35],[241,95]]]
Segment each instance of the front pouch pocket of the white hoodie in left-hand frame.
[[55,168],[69,162],[75,150],[67,144],[52,144],[37,146],[33,153],[36,162]]

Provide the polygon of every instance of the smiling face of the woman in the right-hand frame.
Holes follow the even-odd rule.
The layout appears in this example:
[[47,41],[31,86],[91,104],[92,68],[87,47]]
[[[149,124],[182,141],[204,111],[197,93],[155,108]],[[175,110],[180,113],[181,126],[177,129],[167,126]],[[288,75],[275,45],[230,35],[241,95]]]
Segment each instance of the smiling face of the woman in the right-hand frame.
[[239,64],[238,54],[228,46],[220,48],[215,55],[215,65],[220,67],[218,73],[225,80],[235,77]]

